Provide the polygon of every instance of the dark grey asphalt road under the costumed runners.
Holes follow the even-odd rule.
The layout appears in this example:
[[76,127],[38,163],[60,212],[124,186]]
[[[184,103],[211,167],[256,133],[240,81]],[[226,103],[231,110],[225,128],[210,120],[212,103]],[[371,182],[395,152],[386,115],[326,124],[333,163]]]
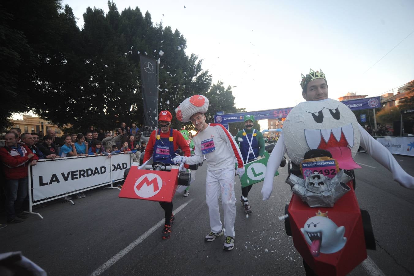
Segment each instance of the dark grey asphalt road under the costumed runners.
[[[414,175],[414,158],[395,157]],[[414,191],[394,182],[368,154],[359,153],[355,160],[364,164],[356,170],[356,195],[360,207],[371,215],[377,250],[368,250],[374,265],[361,264],[349,275],[414,275]],[[118,190],[99,188],[74,199],[75,205],[56,200],[35,209],[43,220],[30,215],[24,223],[0,230],[0,252],[22,251],[52,276],[304,275],[302,259],[277,218],[291,198],[284,183],[287,169],[279,169],[274,178],[270,200],[262,201],[261,183],[253,186],[249,193],[253,213],[248,217],[236,188],[235,248],[226,252],[223,236],[204,241],[210,230],[206,167],[197,170],[190,196],[173,199],[174,210],[179,211],[168,240],[161,239],[164,213],[159,203],[120,199]]]

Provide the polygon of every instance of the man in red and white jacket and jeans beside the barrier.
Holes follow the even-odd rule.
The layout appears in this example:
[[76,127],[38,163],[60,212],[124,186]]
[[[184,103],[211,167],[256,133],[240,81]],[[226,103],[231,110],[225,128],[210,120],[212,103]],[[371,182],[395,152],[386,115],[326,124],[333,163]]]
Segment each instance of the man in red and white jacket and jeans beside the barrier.
[[[22,212],[22,203],[27,196],[27,167],[35,166],[39,157],[22,142],[17,133],[5,136],[6,145],[0,148],[0,160],[6,178],[6,213],[8,223],[21,223],[27,215]],[[16,210],[16,211],[15,211]]]

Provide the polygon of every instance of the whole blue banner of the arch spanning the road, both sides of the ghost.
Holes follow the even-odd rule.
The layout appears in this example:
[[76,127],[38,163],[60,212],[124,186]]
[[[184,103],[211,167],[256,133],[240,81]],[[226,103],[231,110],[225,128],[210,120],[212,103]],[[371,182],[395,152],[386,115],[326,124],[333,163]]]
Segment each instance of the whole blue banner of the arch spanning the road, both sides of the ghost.
[[[361,110],[361,109],[373,109],[381,107],[380,97],[371,97],[363,99],[353,99],[348,101],[342,101],[349,109]],[[260,111],[251,112],[237,112],[229,114],[217,114],[214,115],[214,123],[238,123],[243,122],[244,115],[253,115],[256,120],[267,120],[267,119],[282,119],[286,118],[287,114],[292,110],[293,107],[279,108],[279,109],[267,109]]]

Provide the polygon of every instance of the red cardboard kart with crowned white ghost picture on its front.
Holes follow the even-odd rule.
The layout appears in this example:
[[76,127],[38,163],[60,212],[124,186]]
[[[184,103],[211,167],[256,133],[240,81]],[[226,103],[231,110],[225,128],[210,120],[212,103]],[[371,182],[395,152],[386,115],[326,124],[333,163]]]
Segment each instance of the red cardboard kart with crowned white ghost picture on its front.
[[[290,168],[289,164],[289,168]],[[353,182],[333,207],[309,207],[293,194],[285,207],[286,234],[317,275],[346,275],[375,249],[371,220],[361,210]]]

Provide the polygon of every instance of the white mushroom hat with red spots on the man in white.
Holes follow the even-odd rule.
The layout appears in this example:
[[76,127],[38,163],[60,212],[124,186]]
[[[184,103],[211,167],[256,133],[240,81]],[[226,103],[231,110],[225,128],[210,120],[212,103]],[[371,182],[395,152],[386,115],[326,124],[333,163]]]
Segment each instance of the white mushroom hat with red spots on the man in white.
[[176,116],[178,121],[187,123],[190,117],[196,113],[206,113],[208,109],[208,99],[203,95],[194,95],[185,99],[177,108]]

